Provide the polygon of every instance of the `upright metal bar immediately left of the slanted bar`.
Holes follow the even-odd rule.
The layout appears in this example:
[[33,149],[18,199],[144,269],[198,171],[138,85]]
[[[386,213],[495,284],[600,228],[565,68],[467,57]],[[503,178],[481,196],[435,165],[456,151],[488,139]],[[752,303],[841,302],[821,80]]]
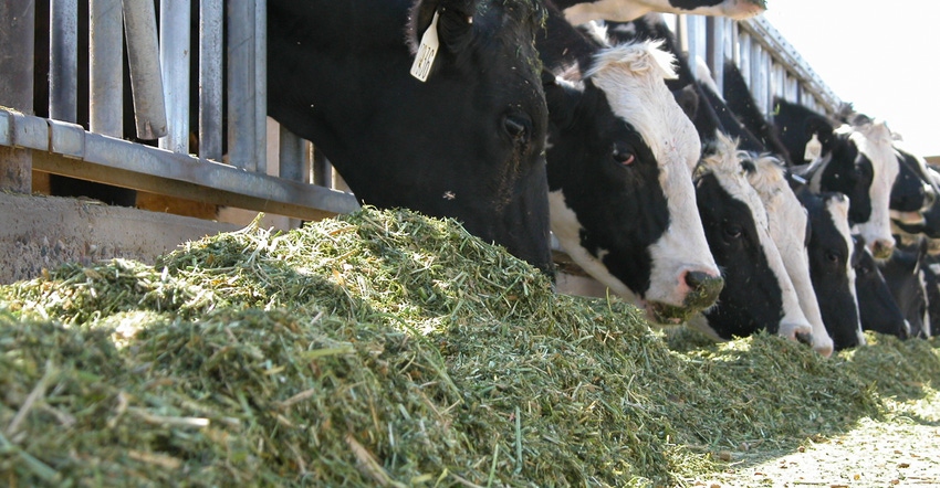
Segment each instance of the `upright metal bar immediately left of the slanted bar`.
[[124,47],[121,0],[91,0],[88,8],[88,129],[124,135]]

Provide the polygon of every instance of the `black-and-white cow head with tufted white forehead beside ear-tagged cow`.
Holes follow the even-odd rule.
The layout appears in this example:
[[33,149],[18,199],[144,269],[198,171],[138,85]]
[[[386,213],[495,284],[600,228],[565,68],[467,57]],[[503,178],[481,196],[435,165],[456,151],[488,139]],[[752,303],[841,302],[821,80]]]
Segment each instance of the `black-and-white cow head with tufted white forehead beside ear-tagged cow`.
[[672,57],[652,42],[599,44],[551,6],[536,46],[561,246],[652,322],[681,322],[711,306],[723,279],[696,211],[700,142],[664,82]]

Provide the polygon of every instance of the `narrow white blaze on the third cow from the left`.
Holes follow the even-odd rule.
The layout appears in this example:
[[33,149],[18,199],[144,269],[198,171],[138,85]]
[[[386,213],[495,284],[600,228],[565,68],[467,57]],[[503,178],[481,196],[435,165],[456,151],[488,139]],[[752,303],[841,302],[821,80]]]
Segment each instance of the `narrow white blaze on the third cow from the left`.
[[[781,253],[771,238],[767,212],[756,190],[744,177],[741,169],[737,142],[719,132],[718,146],[718,152],[704,158],[702,165],[707,165],[712,170],[719,184],[728,194],[751,209],[761,248],[764,251],[767,265],[776,277],[782,293],[783,318],[780,320],[779,335],[788,339],[796,339],[796,335],[812,333],[813,326],[806,319],[806,315],[800,306],[800,298],[783,264]],[[805,232],[805,226],[803,229]]]

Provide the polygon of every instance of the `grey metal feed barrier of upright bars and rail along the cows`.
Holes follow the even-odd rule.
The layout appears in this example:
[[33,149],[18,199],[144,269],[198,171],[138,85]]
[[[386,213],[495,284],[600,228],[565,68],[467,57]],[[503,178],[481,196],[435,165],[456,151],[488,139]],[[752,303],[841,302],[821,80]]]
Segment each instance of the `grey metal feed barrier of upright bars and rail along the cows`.
[[[90,0],[88,130],[75,124],[80,0],[49,1],[48,32],[35,30],[34,0],[0,3],[0,189],[29,193],[35,169],[305,220],[358,208],[351,194],[328,188],[328,166],[310,169],[322,162],[312,157],[310,142],[283,129],[274,142],[265,137],[265,0],[201,0],[198,32],[190,32],[189,0],[161,0],[159,30],[153,0]],[[826,113],[838,107],[838,98],[762,18],[672,19],[681,45],[708,61],[719,87],[722,60],[742,67],[765,114],[772,113],[773,95]],[[40,35],[49,36],[49,53],[34,52]],[[191,35],[199,52],[196,100],[189,86]],[[159,147],[122,139],[125,36],[136,134],[159,138]],[[50,61],[49,118],[31,115],[35,56]],[[198,107],[196,128],[189,127],[190,107]],[[191,130],[198,148],[189,147]],[[228,163],[221,162],[222,130]],[[279,147],[279,177],[268,174],[268,144]],[[194,149],[199,157],[189,153]]]

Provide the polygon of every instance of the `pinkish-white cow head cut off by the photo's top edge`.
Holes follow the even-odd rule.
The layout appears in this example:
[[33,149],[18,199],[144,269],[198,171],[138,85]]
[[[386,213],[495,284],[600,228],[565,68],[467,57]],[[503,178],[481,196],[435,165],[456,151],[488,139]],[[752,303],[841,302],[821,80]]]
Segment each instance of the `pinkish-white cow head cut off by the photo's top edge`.
[[749,19],[767,9],[765,0],[554,0],[572,24],[592,20],[628,22],[649,12]]

